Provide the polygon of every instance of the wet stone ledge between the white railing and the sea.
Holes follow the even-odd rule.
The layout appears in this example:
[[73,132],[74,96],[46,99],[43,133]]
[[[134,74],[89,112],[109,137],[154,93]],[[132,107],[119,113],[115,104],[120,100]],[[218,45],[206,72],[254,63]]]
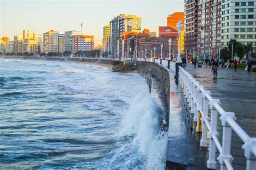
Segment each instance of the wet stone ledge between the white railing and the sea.
[[192,137],[181,104],[180,86],[170,70],[170,117],[166,154],[166,169],[205,169],[200,145]]

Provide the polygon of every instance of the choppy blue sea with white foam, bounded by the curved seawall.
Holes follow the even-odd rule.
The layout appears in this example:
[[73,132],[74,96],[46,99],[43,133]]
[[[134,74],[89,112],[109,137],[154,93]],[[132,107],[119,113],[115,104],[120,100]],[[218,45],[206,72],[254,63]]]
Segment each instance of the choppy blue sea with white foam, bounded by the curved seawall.
[[137,72],[0,59],[0,169],[164,169],[161,93]]

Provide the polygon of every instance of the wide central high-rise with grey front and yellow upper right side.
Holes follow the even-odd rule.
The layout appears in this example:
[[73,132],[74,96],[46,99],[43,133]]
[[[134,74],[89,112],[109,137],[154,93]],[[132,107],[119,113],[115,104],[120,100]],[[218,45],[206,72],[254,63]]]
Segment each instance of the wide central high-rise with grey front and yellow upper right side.
[[122,41],[120,36],[124,32],[141,32],[142,30],[142,18],[137,17],[136,15],[124,15],[120,14],[117,17],[114,17],[110,21],[110,46],[111,46],[111,55],[120,56]]

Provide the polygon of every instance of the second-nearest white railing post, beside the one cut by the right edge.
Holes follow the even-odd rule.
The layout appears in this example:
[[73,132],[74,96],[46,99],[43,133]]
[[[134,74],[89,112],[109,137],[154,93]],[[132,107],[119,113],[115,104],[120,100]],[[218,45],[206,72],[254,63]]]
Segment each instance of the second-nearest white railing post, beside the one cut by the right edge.
[[231,150],[231,138],[232,138],[232,128],[227,123],[227,119],[235,120],[235,115],[232,112],[226,112],[225,114],[221,115],[220,120],[221,124],[223,125],[223,138],[222,138],[222,153],[219,155],[218,160],[221,164],[221,170],[227,170],[225,165],[225,160],[230,161],[233,160],[232,155],[230,154]]

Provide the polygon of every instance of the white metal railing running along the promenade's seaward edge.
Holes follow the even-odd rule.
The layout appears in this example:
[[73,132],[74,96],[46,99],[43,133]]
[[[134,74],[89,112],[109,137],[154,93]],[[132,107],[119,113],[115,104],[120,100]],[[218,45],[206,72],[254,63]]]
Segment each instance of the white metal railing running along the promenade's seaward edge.
[[[237,133],[239,138],[244,142],[242,148],[245,151],[247,159],[246,169],[256,169],[256,138],[251,138],[235,122],[235,113],[226,112],[220,106],[219,99],[213,99],[211,92],[206,91],[203,85],[200,85],[193,76],[183,67],[179,66],[179,83],[184,92],[184,101],[190,107],[190,114],[194,114],[193,121],[197,122],[196,131],[201,132],[200,146],[207,147],[207,135],[210,137],[209,157],[207,168],[216,169],[216,149],[219,151],[217,158],[221,164],[221,169],[233,169],[231,155],[232,130]],[[210,105],[210,117],[208,115],[208,105]],[[220,114],[221,125],[223,126],[222,142],[218,140],[217,121],[218,113]],[[202,130],[200,129],[202,126]],[[207,131],[209,133],[207,134]]]

